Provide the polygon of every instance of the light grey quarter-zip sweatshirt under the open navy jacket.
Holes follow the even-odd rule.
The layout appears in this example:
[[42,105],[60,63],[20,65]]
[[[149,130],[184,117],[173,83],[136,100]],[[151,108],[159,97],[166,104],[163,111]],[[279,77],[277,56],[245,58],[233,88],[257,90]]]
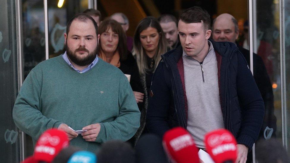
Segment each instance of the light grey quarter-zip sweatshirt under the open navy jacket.
[[187,130],[196,146],[205,148],[204,135],[224,128],[218,86],[218,66],[215,50],[208,41],[209,52],[203,62],[187,56],[183,50],[185,90],[187,96]]

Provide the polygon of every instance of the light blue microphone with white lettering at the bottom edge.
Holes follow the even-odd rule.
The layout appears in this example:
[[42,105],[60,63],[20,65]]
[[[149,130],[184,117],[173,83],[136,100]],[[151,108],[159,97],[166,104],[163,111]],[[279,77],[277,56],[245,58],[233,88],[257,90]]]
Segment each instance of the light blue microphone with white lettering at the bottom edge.
[[75,152],[67,163],[96,163],[97,156],[89,151]]

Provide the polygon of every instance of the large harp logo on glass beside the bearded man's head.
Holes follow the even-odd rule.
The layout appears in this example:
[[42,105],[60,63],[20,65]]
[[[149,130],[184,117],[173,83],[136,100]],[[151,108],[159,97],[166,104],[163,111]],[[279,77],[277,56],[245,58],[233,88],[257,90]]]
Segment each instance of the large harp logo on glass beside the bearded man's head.
[[56,23],[51,31],[51,45],[54,49],[54,53],[64,48],[64,33],[66,32],[66,26],[61,26]]

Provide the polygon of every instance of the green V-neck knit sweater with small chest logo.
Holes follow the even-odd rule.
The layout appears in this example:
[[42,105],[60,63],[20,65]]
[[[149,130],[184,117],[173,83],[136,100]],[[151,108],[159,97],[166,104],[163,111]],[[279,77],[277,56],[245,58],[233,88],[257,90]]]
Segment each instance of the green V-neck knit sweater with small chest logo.
[[100,123],[95,142],[81,135],[70,141],[88,151],[108,140],[127,141],[140,126],[133,91],[121,70],[99,58],[92,69],[78,73],[61,55],[31,70],[15,101],[13,119],[34,145],[45,130],[62,123],[75,130]]

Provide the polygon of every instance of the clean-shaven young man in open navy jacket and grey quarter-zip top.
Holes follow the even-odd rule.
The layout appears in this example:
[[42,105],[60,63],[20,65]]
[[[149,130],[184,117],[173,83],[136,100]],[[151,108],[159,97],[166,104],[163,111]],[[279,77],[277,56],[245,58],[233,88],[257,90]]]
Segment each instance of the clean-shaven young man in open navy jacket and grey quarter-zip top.
[[208,40],[209,25],[209,14],[199,7],[181,14],[182,46],[162,55],[155,70],[147,128],[163,136],[182,126],[198,148],[205,148],[207,132],[226,128],[237,139],[237,162],[244,163],[261,129],[263,99],[236,45]]

